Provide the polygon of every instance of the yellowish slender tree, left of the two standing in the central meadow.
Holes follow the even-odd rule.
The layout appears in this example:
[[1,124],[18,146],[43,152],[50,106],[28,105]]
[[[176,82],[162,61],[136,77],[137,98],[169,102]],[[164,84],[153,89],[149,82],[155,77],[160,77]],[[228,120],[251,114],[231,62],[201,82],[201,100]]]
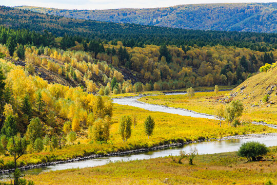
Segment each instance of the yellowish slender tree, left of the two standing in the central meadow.
[[123,141],[126,141],[131,137],[131,125],[132,125],[132,119],[130,116],[122,116],[120,120],[120,127],[119,132],[123,139]]

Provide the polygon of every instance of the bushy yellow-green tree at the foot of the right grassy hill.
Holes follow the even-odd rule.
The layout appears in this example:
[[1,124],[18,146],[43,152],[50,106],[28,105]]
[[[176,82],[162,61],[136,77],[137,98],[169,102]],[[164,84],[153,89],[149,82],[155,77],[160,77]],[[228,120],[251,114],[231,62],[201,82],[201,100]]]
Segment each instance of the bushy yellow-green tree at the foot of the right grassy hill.
[[225,108],[225,119],[231,123],[234,119],[240,118],[243,113],[244,106],[240,100],[233,100]]

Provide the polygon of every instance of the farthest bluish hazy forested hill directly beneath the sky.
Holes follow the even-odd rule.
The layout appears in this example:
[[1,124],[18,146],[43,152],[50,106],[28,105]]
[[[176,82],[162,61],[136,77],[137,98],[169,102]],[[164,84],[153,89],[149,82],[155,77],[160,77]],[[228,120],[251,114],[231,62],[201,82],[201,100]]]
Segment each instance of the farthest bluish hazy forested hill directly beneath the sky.
[[21,6],[71,18],[172,28],[277,32],[277,3],[179,5],[151,9],[64,10]]

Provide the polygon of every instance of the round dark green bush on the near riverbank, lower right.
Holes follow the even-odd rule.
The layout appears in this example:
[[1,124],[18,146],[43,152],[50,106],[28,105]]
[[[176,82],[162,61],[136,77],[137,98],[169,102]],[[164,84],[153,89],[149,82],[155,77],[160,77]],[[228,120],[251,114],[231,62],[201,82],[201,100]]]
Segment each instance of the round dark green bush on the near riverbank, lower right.
[[243,143],[238,151],[238,156],[246,157],[248,161],[256,161],[259,157],[266,155],[269,149],[265,144],[250,141]]

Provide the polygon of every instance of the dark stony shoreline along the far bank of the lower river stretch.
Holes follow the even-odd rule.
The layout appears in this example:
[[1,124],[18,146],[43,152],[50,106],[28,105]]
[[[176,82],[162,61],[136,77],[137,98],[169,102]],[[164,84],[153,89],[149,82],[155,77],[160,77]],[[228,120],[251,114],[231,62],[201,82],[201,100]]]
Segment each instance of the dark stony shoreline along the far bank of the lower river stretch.
[[[168,149],[170,147],[178,147],[183,146],[186,144],[192,144],[192,143],[201,143],[205,141],[223,141],[223,140],[234,140],[234,139],[250,139],[250,138],[263,138],[267,136],[277,136],[277,133],[267,133],[267,134],[246,134],[246,135],[236,135],[236,136],[226,136],[222,138],[210,138],[210,139],[201,139],[196,141],[186,141],[183,143],[177,142],[177,143],[171,143],[171,144],[163,144],[163,145],[157,145],[150,148],[142,148],[142,149],[136,149],[136,150],[129,150],[124,152],[114,152],[109,154],[92,154],[89,156],[84,157],[76,157],[68,160],[62,160],[62,161],[53,161],[53,162],[46,162],[46,163],[38,163],[38,164],[29,164],[25,165],[24,167],[20,167],[18,169],[20,170],[28,170],[28,169],[35,169],[35,168],[41,168],[41,167],[48,167],[55,164],[62,164],[62,163],[70,163],[75,161],[83,161],[83,160],[89,160],[89,159],[95,159],[95,158],[101,158],[101,157],[108,157],[108,156],[122,156],[122,155],[130,155],[130,154],[139,154],[144,153],[148,151],[157,151],[157,150],[164,150]],[[8,169],[8,170],[0,170],[0,174],[10,173],[14,172],[14,169]]]

